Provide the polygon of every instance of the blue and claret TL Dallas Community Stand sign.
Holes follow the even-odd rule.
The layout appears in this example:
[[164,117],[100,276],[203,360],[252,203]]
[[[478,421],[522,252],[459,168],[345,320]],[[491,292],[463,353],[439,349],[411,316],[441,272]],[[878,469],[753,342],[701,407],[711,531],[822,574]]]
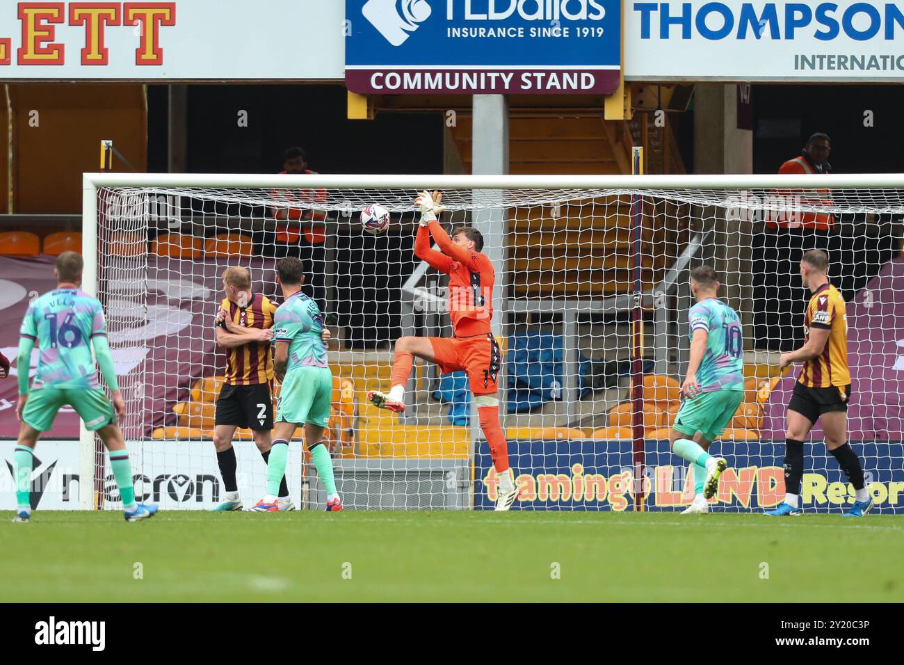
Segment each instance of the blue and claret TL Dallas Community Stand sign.
[[359,93],[608,94],[621,0],[346,0]]

